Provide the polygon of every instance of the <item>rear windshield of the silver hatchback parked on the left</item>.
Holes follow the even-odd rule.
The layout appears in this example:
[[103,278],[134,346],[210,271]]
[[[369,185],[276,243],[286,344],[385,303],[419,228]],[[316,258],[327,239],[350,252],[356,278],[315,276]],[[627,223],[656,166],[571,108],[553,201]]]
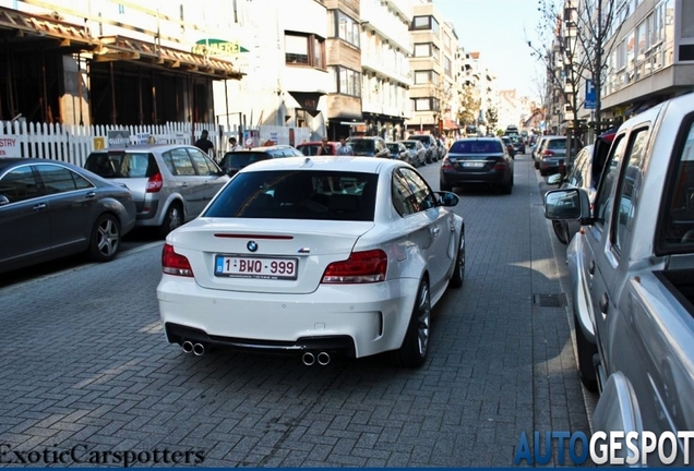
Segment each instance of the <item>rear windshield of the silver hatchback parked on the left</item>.
[[101,178],[149,178],[159,171],[149,153],[94,153],[84,168]]

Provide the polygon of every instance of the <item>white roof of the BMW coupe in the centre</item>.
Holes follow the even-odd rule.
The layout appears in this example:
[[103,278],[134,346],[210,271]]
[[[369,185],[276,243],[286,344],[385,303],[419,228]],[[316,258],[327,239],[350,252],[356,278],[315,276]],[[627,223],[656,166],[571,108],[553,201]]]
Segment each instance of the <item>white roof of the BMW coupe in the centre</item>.
[[380,173],[390,167],[402,167],[399,160],[381,159],[375,157],[352,156],[313,156],[313,157],[285,157],[255,162],[246,167],[241,172],[271,171],[271,170],[336,170],[356,171],[363,173]]

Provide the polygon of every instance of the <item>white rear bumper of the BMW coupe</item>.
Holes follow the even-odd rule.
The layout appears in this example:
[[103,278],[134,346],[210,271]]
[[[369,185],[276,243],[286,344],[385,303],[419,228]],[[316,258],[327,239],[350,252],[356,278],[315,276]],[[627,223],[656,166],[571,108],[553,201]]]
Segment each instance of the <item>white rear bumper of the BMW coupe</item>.
[[199,340],[285,353],[324,346],[359,358],[402,346],[418,287],[419,280],[403,278],[321,285],[306,294],[259,293],[207,289],[163,275],[157,299],[170,343]]

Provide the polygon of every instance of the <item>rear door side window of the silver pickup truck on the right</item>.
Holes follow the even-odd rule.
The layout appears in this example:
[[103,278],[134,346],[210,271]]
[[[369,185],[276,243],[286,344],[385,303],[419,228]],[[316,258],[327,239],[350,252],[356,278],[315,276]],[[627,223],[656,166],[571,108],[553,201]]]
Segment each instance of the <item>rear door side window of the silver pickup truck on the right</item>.
[[626,159],[626,169],[621,176],[620,188],[618,190],[617,214],[613,216],[617,224],[613,224],[611,241],[618,254],[622,252],[626,242],[626,234],[631,229],[631,222],[634,218],[634,209],[636,207],[637,197],[641,193],[641,169],[646,155],[646,140],[648,138],[648,129],[641,129],[632,133],[630,137],[629,154]]

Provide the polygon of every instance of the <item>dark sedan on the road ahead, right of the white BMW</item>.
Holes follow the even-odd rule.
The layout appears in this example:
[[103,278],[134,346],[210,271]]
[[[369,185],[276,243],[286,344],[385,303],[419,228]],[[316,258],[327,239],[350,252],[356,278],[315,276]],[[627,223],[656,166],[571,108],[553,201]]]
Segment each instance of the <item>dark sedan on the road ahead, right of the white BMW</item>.
[[500,138],[458,140],[443,159],[439,188],[442,191],[452,191],[456,186],[493,184],[505,194],[511,194],[513,164],[513,158]]

